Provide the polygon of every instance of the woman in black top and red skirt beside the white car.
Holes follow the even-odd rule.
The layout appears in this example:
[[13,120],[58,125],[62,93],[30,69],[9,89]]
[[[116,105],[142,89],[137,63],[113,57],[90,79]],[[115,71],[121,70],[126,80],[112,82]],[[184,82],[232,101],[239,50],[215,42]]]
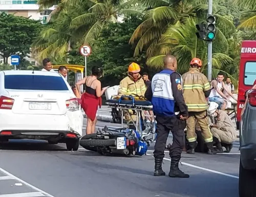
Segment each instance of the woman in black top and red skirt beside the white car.
[[81,107],[87,115],[87,127],[86,134],[92,134],[95,132],[96,127],[96,113],[98,106],[101,107],[101,96],[108,87],[101,89],[101,82],[98,80],[102,76],[103,70],[98,66],[93,66],[92,75],[83,78],[76,83],[77,90],[80,89],[80,85],[86,86],[86,92],[81,95]]

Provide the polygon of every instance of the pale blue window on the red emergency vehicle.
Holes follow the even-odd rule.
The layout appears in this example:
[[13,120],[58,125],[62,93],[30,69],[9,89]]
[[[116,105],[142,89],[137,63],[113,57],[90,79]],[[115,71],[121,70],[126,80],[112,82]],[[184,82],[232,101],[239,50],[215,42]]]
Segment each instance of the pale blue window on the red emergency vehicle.
[[256,80],[256,62],[246,62],[244,71],[244,85],[253,85]]

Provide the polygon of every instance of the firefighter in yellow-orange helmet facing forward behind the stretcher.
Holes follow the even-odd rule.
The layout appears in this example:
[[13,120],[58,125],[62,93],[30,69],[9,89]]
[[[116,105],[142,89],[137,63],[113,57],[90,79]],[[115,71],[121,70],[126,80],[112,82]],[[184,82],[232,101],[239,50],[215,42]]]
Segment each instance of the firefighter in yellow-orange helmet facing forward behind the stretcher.
[[[138,96],[144,96],[146,91],[146,86],[142,76],[139,74],[140,66],[133,62],[128,67],[128,76],[125,77],[122,81],[120,81],[118,88],[118,95],[131,95],[135,94]],[[132,115],[132,119],[134,122],[136,121],[136,115],[133,114],[132,110],[129,110],[129,113]],[[126,112],[124,113],[124,118],[127,121],[127,125],[130,129],[135,129],[130,115]],[[144,129],[144,127],[142,127]]]

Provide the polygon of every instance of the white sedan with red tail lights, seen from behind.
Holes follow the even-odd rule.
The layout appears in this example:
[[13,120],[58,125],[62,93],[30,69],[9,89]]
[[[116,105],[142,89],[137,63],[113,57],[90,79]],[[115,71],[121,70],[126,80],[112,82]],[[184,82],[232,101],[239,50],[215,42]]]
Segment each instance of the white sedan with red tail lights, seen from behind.
[[42,139],[78,150],[83,114],[68,82],[56,72],[0,71],[0,141]]

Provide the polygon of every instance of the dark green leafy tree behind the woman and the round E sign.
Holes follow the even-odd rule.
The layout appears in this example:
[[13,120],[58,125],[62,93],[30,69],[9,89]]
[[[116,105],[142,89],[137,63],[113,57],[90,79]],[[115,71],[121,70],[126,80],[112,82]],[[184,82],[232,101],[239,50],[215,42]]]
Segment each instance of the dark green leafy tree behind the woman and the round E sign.
[[[133,61],[141,65],[142,71],[148,71],[145,55],[133,57],[133,46],[128,43],[140,22],[137,17],[132,17],[123,23],[110,23],[108,27],[102,29],[101,35],[94,42],[92,55],[87,58],[87,75],[90,75],[92,66],[102,66],[102,83],[116,85],[127,75],[127,68]],[[71,51],[68,57],[70,64],[84,65],[84,57],[77,50]]]

